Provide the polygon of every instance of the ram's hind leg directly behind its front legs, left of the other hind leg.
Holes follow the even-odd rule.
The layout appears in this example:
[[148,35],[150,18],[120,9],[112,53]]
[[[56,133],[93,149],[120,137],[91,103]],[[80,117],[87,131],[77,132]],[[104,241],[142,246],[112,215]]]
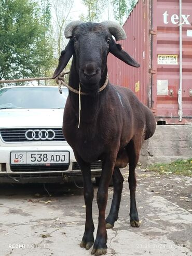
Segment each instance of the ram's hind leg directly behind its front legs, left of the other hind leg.
[[114,227],[114,223],[118,219],[122,186],[123,186],[123,182],[124,182],[124,178],[122,177],[122,174],[121,174],[119,168],[117,168],[117,167],[115,167],[112,177],[113,177],[114,193],[113,193],[111,209],[110,209],[108,217],[106,218],[106,221],[105,221],[106,228]]

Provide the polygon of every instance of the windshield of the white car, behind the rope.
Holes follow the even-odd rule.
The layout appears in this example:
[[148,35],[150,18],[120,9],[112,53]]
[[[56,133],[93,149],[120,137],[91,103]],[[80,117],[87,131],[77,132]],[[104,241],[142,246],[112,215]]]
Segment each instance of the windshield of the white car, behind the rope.
[[9,87],[0,90],[0,109],[63,109],[67,88]]

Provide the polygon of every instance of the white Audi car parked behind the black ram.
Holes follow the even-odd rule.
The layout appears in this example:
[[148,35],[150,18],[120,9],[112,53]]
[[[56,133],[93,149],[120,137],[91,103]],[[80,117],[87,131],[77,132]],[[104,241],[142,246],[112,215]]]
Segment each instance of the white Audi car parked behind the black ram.
[[[11,86],[0,89],[0,183],[67,182],[81,178],[62,134],[68,89]],[[91,164],[92,177],[101,162]]]

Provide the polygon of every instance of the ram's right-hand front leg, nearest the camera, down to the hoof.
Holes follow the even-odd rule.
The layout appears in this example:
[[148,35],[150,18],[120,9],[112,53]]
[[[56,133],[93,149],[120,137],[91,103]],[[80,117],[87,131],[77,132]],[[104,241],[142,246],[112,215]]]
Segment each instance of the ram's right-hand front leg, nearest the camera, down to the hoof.
[[116,157],[108,157],[102,161],[102,174],[97,193],[97,203],[99,208],[99,223],[97,237],[95,239],[91,254],[102,255],[107,252],[107,232],[105,225],[105,209],[108,197],[108,185],[112,178]]

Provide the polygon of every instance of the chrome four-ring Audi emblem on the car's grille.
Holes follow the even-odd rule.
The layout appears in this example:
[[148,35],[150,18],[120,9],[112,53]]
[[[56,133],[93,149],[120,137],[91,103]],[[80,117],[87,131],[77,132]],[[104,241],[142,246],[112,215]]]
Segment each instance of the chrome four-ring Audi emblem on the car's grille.
[[56,133],[53,130],[28,130],[25,132],[27,140],[53,140]]

